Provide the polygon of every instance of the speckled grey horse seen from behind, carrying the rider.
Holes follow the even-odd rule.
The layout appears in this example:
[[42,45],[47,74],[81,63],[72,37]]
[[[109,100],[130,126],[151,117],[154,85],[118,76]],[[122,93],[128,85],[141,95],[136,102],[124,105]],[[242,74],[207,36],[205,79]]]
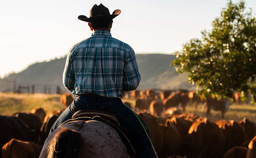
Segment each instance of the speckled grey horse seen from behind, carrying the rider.
[[88,117],[80,117],[62,123],[45,140],[39,158],[134,157],[116,128],[107,121],[100,121],[99,116],[95,117],[87,121]]

